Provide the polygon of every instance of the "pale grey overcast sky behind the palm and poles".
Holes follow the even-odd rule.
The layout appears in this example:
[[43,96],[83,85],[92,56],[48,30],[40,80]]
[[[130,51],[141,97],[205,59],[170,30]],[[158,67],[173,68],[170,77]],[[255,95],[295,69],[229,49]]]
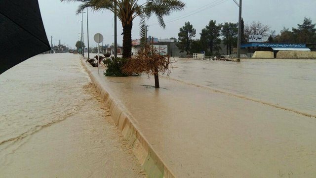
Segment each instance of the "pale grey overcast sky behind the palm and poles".
[[[140,2],[145,0],[140,0]],[[164,18],[166,28],[157,25],[157,20],[152,17],[147,21],[150,25],[148,35],[165,39],[178,37],[179,28],[190,21],[197,30],[196,38],[210,20],[217,23],[238,21],[238,7],[233,0],[183,0],[186,7],[183,11],[173,12]],[[239,1],[239,0],[237,0]],[[53,45],[62,44],[75,47],[79,40],[81,15],[76,15],[79,3],[66,3],[60,0],[39,0],[40,11],[45,26],[47,37],[53,36]],[[243,0],[242,17],[245,24],[260,21],[269,25],[271,30],[279,33],[286,28],[297,27],[304,17],[310,17],[316,23],[316,0]],[[191,15],[193,14],[193,15]],[[189,16],[191,15],[191,16]],[[104,45],[114,42],[113,13],[109,11],[94,12],[89,10],[89,43],[95,46],[93,35],[101,33],[104,36]],[[84,20],[84,43],[87,44],[86,13]],[[172,22],[170,22],[172,21]],[[133,22],[132,39],[139,38],[139,19]],[[118,20],[118,44],[122,44],[122,26]],[[50,37],[49,37],[50,42]]]

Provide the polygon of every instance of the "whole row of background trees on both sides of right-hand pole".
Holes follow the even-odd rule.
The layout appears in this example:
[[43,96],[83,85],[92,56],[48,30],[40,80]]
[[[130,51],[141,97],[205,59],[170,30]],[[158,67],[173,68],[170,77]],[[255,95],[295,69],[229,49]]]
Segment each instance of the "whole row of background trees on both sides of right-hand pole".
[[[241,43],[248,43],[249,35],[262,35],[267,43],[316,43],[316,24],[310,18],[305,17],[302,24],[297,28],[283,28],[276,35],[275,30],[270,30],[268,25],[261,22],[252,22],[245,25],[241,20]],[[187,54],[205,51],[206,55],[218,55],[221,43],[225,45],[227,54],[232,54],[233,47],[237,47],[238,23],[225,22],[216,24],[216,20],[210,20],[208,25],[201,30],[200,39],[196,37],[197,30],[190,22],[186,22],[178,33],[178,48]],[[174,39],[174,38],[173,38]]]

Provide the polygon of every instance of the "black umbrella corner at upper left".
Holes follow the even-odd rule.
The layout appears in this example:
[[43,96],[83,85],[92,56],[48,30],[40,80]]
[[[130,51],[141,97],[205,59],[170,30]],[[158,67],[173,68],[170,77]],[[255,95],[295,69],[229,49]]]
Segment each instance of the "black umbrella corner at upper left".
[[38,0],[0,0],[0,74],[50,49]]

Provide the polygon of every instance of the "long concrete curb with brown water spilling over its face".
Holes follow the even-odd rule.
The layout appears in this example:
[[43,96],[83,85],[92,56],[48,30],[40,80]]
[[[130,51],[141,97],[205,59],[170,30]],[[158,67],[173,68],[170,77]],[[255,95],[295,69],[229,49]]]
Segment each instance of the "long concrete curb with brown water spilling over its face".
[[87,66],[84,58],[80,57],[81,64],[85,71],[88,73],[92,84],[97,89],[101,98],[106,102],[109,107],[110,115],[118,126],[118,130],[122,133],[124,139],[132,148],[134,155],[145,170],[149,178],[175,178],[174,174],[166,167],[160,157],[153,150],[150,143],[135,127],[131,118],[123,111],[123,107],[111,96],[111,93],[102,86],[100,82],[91,73],[92,66]]

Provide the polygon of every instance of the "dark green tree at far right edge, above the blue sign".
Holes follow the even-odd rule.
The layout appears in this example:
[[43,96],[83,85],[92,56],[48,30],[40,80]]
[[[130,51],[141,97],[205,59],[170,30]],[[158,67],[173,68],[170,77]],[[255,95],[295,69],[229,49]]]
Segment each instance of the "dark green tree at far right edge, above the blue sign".
[[316,24],[312,23],[311,18],[304,18],[303,24],[297,24],[298,28],[292,28],[296,43],[315,43]]

